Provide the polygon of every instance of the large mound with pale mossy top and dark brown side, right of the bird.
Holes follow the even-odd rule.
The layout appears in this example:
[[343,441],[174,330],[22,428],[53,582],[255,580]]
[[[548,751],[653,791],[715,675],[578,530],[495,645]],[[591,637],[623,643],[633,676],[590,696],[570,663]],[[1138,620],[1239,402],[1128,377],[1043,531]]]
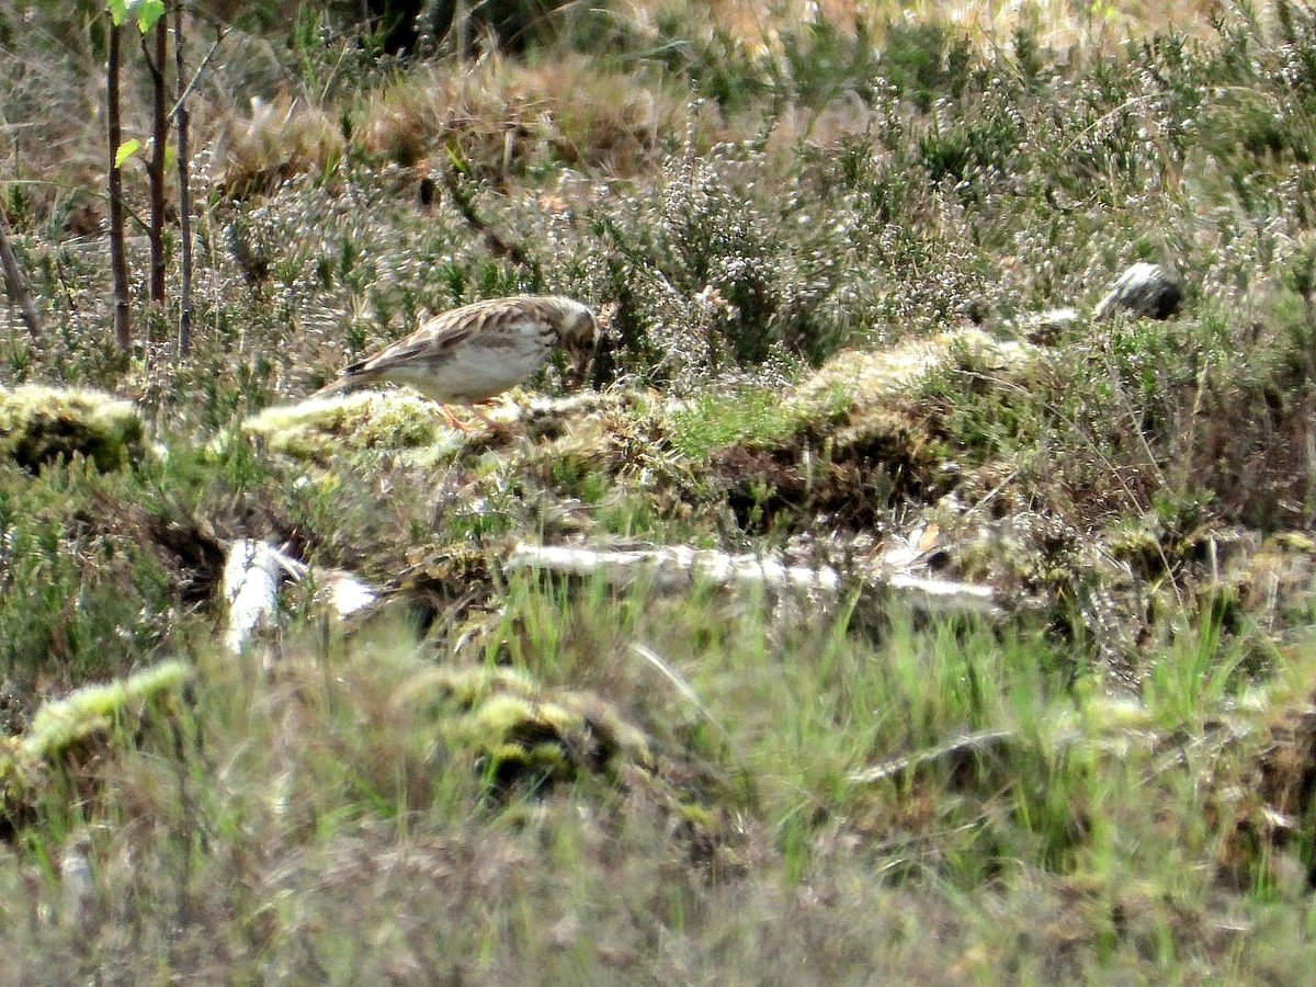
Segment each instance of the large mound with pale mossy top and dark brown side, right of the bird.
[[674,412],[672,443],[692,447],[701,476],[747,530],[797,530],[817,519],[869,529],[891,504],[932,500],[955,483],[948,467],[958,450],[923,401],[926,382],[962,365],[1019,379],[1036,353],[976,329],[846,351],[784,397],[701,399]]

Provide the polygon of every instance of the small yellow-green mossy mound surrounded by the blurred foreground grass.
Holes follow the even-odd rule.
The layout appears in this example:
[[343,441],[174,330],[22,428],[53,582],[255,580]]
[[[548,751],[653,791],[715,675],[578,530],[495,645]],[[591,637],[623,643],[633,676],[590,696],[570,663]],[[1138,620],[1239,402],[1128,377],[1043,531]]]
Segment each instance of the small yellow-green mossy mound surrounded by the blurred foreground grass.
[[499,791],[538,790],[583,772],[615,774],[651,762],[644,733],[608,703],[542,688],[512,669],[438,669],[412,683],[408,695],[455,708],[455,717],[443,717],[446,742],[468,751]]

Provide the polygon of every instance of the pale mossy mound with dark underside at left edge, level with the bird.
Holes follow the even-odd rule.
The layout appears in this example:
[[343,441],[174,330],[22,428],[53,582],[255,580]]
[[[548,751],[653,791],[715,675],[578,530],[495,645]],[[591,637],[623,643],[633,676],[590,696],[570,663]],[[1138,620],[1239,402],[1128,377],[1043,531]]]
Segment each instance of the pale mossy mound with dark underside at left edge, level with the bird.
[[143,438],[132,401],[86,388],[0,388],[0,455],[32,472],[75,455],[120,470],[139,462]]

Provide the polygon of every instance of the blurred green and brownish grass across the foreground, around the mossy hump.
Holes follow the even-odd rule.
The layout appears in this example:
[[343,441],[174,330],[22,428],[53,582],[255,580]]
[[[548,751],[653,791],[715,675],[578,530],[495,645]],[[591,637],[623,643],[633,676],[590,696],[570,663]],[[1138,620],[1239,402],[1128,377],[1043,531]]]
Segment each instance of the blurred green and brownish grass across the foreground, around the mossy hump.
[[[38,807],[0,882],[14,887],[24,857],[58,859],[86,824],[99,925],[82,953],[64,950],[76,930],[42,919],[61,908],[59,882],[33,875],[34,898],[0,905],[7,928],[36,916],[20,973],[191,962],[303,979],[338,963],[353,982],[417,963],[494,982],[545,965],[630,982],[728,962],[794,978],[821,962],[850,980],[936,969],[921,916],[941,929],[942,969],[1004,949],[1025,979],[1159,978],[1208,959],[1259,976],[1277,940],[1212,958],[1221,946],[1195,923],[1279,936],[1284,909],[1305,908],[1288,891],[1209,894],[1202,863],[1230,817],[1209,821],[1217,796],[1199,772],[1236,772],[1254,742],[1209,763],[1195,730],[1153,732],[1186,722],[1183,696],[1149,686],[1145,708],[1113,707],[1096,669],[1026,628],[896,616],[863,630],[844,612],[792,626],[750,600],[521,580],[472,657],[509,662],[545,697],[588,688],[654,759],[620,784],[586,772],[520,792],[482,772],[447,707],[417,701],[426,676],[462,661],[442,657],[451,638],[421,642],[393,620],[313,641],[291,629],[274,675],[203,646],[180,730],[147,729],[107,763],[95,803]],[[1186,651],[1203,647],[1166,662],[1190,675]],[[963,734],[999,740],[936,751]],[[898,758],[909,767],[851,780]],[[761,937],[769,966],[749,951]]]

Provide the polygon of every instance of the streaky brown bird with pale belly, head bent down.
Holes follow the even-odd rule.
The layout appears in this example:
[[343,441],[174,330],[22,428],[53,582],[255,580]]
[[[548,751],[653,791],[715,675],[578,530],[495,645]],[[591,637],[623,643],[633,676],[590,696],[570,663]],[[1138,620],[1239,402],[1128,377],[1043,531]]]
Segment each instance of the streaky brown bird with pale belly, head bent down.
[[390,382],[442,405],[476,404],[525,380],[554,347],[567,354],[574,383],[580,383],[597,341],[594,312],[574,299],[488,299],[434,316],[411,336],[351,363],[312,397]]

